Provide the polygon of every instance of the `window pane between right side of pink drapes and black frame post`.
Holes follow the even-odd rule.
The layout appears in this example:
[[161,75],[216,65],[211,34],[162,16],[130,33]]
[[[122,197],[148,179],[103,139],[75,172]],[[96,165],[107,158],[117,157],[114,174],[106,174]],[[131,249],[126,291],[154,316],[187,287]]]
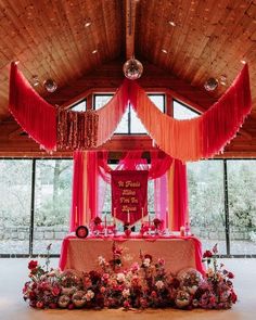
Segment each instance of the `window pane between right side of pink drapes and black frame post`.
[[210,249],[227,254],[225,232],[223,162],[202,161],[189,163],[189,208],[191,231]]

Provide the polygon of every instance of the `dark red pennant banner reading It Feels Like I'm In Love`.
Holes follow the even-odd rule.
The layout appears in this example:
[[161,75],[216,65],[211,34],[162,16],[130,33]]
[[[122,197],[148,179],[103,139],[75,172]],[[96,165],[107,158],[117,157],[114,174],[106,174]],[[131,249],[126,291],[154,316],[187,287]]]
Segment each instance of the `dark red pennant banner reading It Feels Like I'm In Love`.
[[145,170],[112,171],[112,215],[135,225],[148,214],[148,176]]

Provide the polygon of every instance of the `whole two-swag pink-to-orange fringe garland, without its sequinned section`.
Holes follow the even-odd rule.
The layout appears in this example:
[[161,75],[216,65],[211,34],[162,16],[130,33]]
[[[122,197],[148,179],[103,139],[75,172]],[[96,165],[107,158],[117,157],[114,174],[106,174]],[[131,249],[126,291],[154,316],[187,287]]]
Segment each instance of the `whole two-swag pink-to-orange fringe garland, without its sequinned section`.
[[[150,136],[171,157],[182,162],[213,157],[235,136],[252,110],[248,66],[244,66],[233,85],[202,116],[189,120],[177,120],[163,114],[139,85],[125,80],[113,99],[97,111],[97,146],[111,139],[128,101]],[[55,149],[56,111],[35,92],[15,64],[11,67],[10,111],[22,128],[42,148]]]

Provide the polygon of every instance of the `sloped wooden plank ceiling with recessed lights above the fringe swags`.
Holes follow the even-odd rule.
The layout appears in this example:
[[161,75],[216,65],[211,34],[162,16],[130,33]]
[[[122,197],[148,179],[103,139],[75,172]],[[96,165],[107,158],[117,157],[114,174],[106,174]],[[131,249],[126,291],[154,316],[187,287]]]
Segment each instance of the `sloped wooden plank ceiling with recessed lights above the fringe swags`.
[[[201,111],[225,92],[246,61],[253,112],[227,154],[256,155],[255,0],[0,1],[0,154],[17,130],[8,112],[12,61],[20,61],[31,84],[38,77],[39,94],[67,105],[95,89],[115,90],[123,63],[133,53],[144,65],[144,88],[167,91]],[[210,94],[204,90],[207,78],[223,75],[226,86]],[[48,78],[57,82],[52,94],[43,87]],[[35,151],[29,143],[26,151]]]

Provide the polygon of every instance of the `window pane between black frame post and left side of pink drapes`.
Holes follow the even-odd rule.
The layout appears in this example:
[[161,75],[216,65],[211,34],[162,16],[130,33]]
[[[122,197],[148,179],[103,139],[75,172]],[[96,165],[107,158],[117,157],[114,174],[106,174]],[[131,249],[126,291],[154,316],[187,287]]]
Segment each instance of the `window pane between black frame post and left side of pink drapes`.
[[34,254],[59,254],[68,232],[72,203],[72,161],[40,159],[36,162]]

